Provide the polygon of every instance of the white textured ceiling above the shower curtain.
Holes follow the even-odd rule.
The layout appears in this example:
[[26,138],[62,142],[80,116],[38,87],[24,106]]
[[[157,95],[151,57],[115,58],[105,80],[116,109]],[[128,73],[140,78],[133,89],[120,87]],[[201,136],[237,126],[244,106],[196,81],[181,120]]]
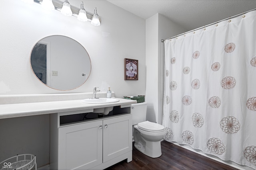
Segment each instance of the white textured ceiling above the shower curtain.
[[256,0],[107,0],[143,19],[159,13],[188,31],[256,8]]

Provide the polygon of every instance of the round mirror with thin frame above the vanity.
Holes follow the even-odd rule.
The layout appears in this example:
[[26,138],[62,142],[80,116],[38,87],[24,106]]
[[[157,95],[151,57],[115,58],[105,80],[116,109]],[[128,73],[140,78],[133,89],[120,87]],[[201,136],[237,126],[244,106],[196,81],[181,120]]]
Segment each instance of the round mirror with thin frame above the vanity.
[[42,83],[56,90],[78,88],[91,72],[86,49],[74,39],[62,35],[38,41],[31,51],[30,65]]

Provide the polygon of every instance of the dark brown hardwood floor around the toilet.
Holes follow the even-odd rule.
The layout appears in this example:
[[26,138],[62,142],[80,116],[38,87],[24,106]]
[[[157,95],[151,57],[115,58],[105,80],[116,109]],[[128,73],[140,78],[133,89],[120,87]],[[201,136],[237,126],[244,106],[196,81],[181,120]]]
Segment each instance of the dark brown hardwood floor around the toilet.
[[150,158],[133,146],[131,162],[124,160],[105,170],[237,170],[167,141],[162,141],[161,146],[159,158]]

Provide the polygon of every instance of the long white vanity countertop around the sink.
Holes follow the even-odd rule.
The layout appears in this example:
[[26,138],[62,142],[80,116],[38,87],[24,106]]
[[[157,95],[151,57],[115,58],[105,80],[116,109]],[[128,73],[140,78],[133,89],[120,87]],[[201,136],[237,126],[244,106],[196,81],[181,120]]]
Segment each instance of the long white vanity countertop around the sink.
[[[0,104],[0,119],[11,117],[22,117],[32,115],[42,115],[49,113],[59,113],[66,111],[78,111],[86,109],[96,109],[101,107],[125,106],[137,103],[136,100],[118,98],[119,102],[107,104],[87,104],[82,100],[63,100],[52,102],[35,102],[19,104]],[[128,107],[128,106],[126,106]]]

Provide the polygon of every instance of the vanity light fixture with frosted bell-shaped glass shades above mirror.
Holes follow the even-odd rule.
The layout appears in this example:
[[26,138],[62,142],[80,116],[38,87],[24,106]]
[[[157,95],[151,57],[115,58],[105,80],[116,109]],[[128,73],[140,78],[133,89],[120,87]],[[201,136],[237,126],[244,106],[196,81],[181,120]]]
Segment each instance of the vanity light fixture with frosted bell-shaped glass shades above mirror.
[[[22,0],[29,1],[29,0]],[[31,0],[32,1],[32,0]],[[47,10],[57,10],[64,15],[77,17],[80,21],[89,21],[92,25],[100,25],[100,17],[97,14],[97,8],[94,8],[94,15],[88,14],[84,9],[84,2],[81,2],[80,8],[70,6],[68,0],[61,2],[60,0],[33,0],[37,4],[41,4]],[[68,12],[65,12],[68,9]]]

